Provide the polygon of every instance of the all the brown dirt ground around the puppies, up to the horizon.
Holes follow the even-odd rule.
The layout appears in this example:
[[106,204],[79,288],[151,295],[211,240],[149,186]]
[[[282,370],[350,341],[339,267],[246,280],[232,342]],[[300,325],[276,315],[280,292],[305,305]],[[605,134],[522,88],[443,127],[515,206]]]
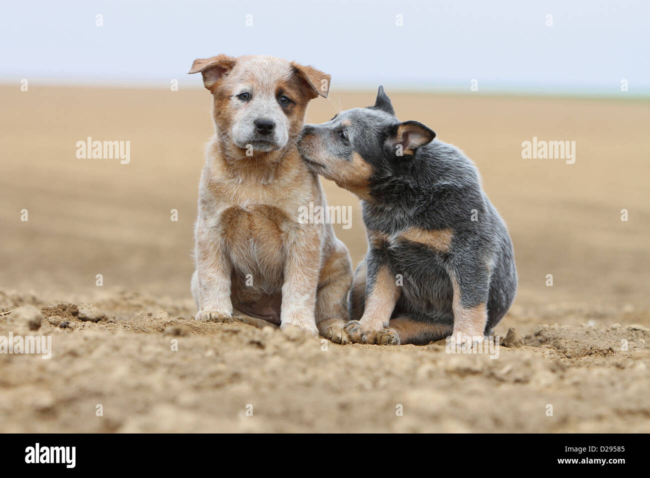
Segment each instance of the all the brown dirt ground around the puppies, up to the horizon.
[[[498,356],[197,323],[209,94],[0,86],[0,338],[52,338],[49,360],[0,354],[0,432],[649,432],[650,103],[387,93],[474,159],[508,223]],[[334,88],[307,120],[373,100]],[[130,163],[77,159],[86,137],[130,140]],[[533,137],[575,140],[575,164],[523,159]],[[353,207],[335,230],[356,264],[357,200],[324,188]]]

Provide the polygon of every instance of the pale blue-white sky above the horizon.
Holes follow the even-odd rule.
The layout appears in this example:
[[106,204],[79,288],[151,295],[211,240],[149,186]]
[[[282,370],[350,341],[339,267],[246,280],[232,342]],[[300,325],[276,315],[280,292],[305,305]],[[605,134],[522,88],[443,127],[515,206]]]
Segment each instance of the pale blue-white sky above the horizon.
[[312,64],[337,89],[617,95],[626,79],[650,96],[648,18],[645,0],[3,1],[0,82],[200,88],[192,60],[227,53]]

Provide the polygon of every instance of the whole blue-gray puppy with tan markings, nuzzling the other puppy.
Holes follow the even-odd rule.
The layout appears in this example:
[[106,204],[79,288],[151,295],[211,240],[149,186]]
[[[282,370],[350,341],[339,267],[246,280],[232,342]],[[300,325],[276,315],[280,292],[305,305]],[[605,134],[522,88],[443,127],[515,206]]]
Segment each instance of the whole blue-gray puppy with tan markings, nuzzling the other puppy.
[[417,121],[376,102],[307,125],[309,168],[359,196],[368,252],[348,295],[357,343],[426,344],[491,334],[510,308],[517,271],[510,235],[474,163]]

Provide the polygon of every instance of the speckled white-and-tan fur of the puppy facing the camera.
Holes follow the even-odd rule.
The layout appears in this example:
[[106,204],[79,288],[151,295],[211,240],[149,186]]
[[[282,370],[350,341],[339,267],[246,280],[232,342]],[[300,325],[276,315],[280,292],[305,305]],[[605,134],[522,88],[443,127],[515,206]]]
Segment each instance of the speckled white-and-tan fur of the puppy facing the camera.
[[[346,343],[348,250],[331,224],[298,220],[301,206],[326,206],[296,139],[307,103],[327,96],[330,76],[260,56],[198,59],[190,73],[198,72],[213,94],[215,134],[199,187],[196,319],[297,326]],[[259,118],[274,123],[272,133],[256,133]]]

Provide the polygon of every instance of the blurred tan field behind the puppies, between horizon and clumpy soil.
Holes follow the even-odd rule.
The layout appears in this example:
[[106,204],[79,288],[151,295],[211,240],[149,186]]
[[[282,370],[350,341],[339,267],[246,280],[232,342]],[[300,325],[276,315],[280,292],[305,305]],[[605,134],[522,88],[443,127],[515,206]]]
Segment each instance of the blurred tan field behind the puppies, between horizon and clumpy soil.
[[[209,93],[31,85],[0,94],[0,287],[92,292],[103,274],[105,287],[188,297]],[[512,233],[520,302],[650,303],[649,102],[388,94],[400,119],[424,122],[478,165]],[[307,121],[373,101],[333,90],[311,102]],[[77,159],[88,136],[130,140],[131,163]],[[522,159],[533,136],[575,140],[575,164]],[[354,208],[352,228],[337,231],[357,262],[366,246],[358,202],[324,182],[330,204]]]

